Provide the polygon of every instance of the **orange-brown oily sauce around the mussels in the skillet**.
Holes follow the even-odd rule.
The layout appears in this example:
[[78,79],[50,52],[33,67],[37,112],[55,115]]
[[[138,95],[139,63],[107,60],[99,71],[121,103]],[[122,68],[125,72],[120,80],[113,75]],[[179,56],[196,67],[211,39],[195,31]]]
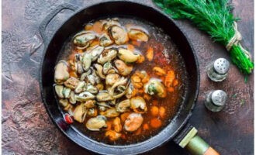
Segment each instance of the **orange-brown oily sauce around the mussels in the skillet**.
[[[161,38],[157,38],[152,35],[153,33],[160,33],[157,29],[152,28],[153,26],[148,26],[144,24],[144,22],[139,22],[136,19],[119,19],[120,22],[124,22],[129,26],[147,26],[147,30],[150,35],[150,40],[147,43],[130,40],[126,45],[123,45],[128,50],[133,52],[140,51],[140,53],[144,56],[143,60],[141,60],[138,64],[133,64],[134,71],[146,71],[149,77],[156,77],[161,79],[164,83],[164,87],[167,90],[166,98],[153,98],[150,95],[144,93],[144,87],[137,86],[135,91],[133,92],[135,96],[141,96],[147,102],[147,112],[143,114],[144,123],[137,129],[136,132],[127,133],[122,130],[122,136],[119,140],[112,142],[105,136],[105,131],[112,129],[112,120],[108,119],[107,128],[103,129],[102,132],[92,132],[85,128],[85,125],[81,125],[79,123],[74,123],[78,129],[85,133],[86,136],[91,137],[94,140],[101,141],[103,143],[117,143],[117,144],[128,144],[128,143],[137,143],[143,140],[146,140],[150,136],[154,136],[156,133],[160,132],[164,126],[168,125],[168,122],[171,121],[171,118],[175,115],[178,110],[179,102],[181,101],[180,96],[184,92],[184,88],[182,88],[182,83],[184,79],[182,79],[182,74],[185,74],[184,66],[182,68],[181,63],[183,63],[181,57],[178,55],[178,51],[174,50],[171,55],[166,57],[164,55],[164,44],[159,41]],[[139,25],[137,25],[139,23]],[[123,24],[124,25],[124,24]],[[88,24],[85,26],[85,30],[93,31],[99,36],[103,33],[106,33],[105,30],[102,29],[102,22],[94,22],[93,24]],[[165,35],[164,33],[161,35]],[[171,40],[169,41],[171,46],[175,46]],[[99,44],[99,40],[96,40],[92,43],[93,45]],[[82,50],[77,50],[72,47],[71,54],[67,57],[67,60],[74,60],[74,55],[76,53],[81,53]],[[169,59],[169,61],[168,61]],[[153,67],[161,67],[167,74],[157,75],[152,71]],[[71,76],[76,77],[74,71],[70,71]],[[140,79],[140,84],[144,85],[147,83],[149,79]],[[130,111],[132,112],[132,111]],[[121,119],[121,124],[123,126],[124,121],[127,116],[130,115],[130,112],[125,112],[119,115]],[[86,120],[85,120],[86,122]]]

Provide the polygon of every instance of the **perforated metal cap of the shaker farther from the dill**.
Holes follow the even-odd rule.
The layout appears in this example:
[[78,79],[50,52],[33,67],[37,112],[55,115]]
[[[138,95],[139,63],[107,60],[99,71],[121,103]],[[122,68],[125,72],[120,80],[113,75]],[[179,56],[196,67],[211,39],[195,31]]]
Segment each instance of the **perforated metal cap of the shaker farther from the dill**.
[[226,100],[227,100],[227,94],[225,91],[222,91],[222,90],[213,91],[212,101],[214,105],[219,105],[219,106],[225,105]]

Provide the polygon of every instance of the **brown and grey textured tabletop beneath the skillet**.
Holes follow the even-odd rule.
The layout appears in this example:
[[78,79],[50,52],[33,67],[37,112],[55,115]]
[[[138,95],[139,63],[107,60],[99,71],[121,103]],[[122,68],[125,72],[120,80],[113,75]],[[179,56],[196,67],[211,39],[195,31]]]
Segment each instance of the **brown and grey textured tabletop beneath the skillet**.
[[[64,2],[86,6],[100,2],[64,0],[2,1],[2,153],[3,154],[91,154],[67,140],[50,121],[40,98],[38,73],[43,44],[38,26],[48,12]],[[144,0],[148,5],[150,1]],[[254,1],[234,0],[234,14],[239,15],[244,47],[254,51]],[[61,12],[50,23],[52,34],[71,11]],[[254,76],[244,77],[233,65],[226,81],[214,83],[206,76],[206,64],[227,52],[189,22],[176,21],[192,40],[201,72],[199,99],[190,122],[221,154],[253,154]],[[40,47],[39,47],[40,46]],[[39,48],[37,48],[39,47]],[[254,55],[254,53],[252,53]],[[228,102],[222,112],[209,112],[203,105],[211,89],[227,91]],[[170,142],[150,154],[187,154]]]

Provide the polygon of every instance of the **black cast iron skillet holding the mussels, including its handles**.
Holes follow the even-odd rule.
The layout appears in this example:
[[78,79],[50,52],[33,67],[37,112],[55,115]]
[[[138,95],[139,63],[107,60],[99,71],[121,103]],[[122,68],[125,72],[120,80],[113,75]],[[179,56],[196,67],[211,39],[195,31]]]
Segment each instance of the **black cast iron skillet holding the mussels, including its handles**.
[[[70,9],[74,11],[74,15],[67,19],[67,21],[64,22],[59,29],[57,29],[52,38],[48,38],[47,34],[45,33],[48,23],[54,18],[55,15],[57,15],[58,12],[61,12],[63,9]],[[195,136],[195,134],[192,134],[192,130],[194,128],[192,129],[192,127],[188,125],[185,126],[190,115],[192,115],[192,108],[195,105],[199,92],[199,66],[195,52],[192,49],[189,40],[187,40],[181,29],[175,25],[175,22],[173,22],[173,20],[167,15],[164,15],[164,13],[161,11],[137,2],[101,2],[97,5],[92,5],[88,8],[77,10],[78,7],[73,5],[60,5],[53,12],[50,12],[50,14],[47,15],[46,19],[44,19],[40,25],[40,33],[45,45],[43,60],[40,66],[40,91],[43,98],[43,103],[47,108],[47,112],[53,122],[57,125],[58,129],[61,130],[61,133],[64,133],[65,136],[67,136],[74,143],[77,143],[79,146],[82,146],[85,149],[91,150],[95,153],[103,154],[144,153],[171,139],[175,140],[176,143],[182,146],[181,143],[186,143],[183,138],[186,135],[189,135],[190,138],[187,140],[187,143],[189,143],[190,146],[187,145],[186,147],[192,151],[192,153],[193,151],[194,153],[198,154],[208,153],[210,148],[209,145],[204,145],[205,143],[200,141],[202,139],[192,140],[192,137]],[[170,124],[168,124],[168,126],[161,130],[160,133],[153,136],[149,140],[127,146],[107,145],[105,143],[91,140],[71,126],[68,126],[64,122],[60,108],[58,108],[57,100],[54,98],[53,89],[54,66],[57,63],[57,56],[61,51],[64,41],[71,36],[71,34],[77,33],[78,29],[81,29],[81,26],[84,23],[89,22],[92,19],[99,19],[100,17],[104,16],[119,15],[130,15],[147,20],[148,22],[152,22],[154,25],[164,29],[164,33],[167,33],[169,36],[173,36],[173,38],[175,38],[174,42],[185,60],[185,68],[189,77],[189,81],[187,82],[187,92],[185,93],[185,100]],[[195,129],[193,131],[195,131]],[[184,145],[182,147],[184,147]]]

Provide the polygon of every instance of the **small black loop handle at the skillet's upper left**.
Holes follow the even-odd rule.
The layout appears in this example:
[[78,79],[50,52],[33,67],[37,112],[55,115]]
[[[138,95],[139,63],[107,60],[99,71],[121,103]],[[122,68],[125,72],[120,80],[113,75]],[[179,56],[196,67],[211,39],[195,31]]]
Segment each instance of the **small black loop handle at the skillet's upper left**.
[[39,26],[39,31],[40,31],[40,35],[42,36],[42,39],[44,41],[44,43],[49,43],[49,39],[47,37],[47,34],[45,32],[48,24],[50,23],[50,21],[52,19],[54,19],[54,17],[59,13],[61,12],[62,10],[64,9],[69,9],[71,11],[76,11],[78,10],[78,6],[74,6],[74,5],[71,5],[71,4],[68,4],[68,3],[64,3],[62,5],[59,5],[57,6],[56,9],[54,9],[53,11],[51,11],[44,19],[43,19],[43,22],[40,23],[40,26]]

